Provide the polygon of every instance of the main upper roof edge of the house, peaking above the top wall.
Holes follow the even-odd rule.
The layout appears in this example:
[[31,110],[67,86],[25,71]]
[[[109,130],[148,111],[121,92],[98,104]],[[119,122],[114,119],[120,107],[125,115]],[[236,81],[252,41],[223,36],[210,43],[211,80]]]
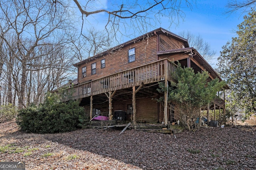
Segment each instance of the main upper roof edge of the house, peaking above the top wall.
[[169,36],[169,37],[172,37],[172,38],[174,38],[174,39],[177,39],[177,40],[179,40],[179,41],[182,41],[182,42],[185,44],[185,48],[186,48],[186,47],[189,47],[189,45],[188,45],[188,40],[187,40],[187,39],[184,39],[183,37],[180,37],[179,35],[176,35],[175,33],[172,33],[172,32],[170,32],[170,31],[168,31],[168,30],[163,29],[163,28],[160,27],[160,28],[158,28],[158,29],[155,29],[155,30],[153,30],[153,31],[150,31],[150,32],[148,32],[148,33],[146,33],[146,34],[144,34],[144,35],[141,35],[141,36],[136,37],[136,38],[134,38],[134,39],[132,39],[132,40],[130,40],[130,41],[127,41],[127,42],[125,42],[125,43],[122,43],[122,44],[120,44],[120,45],[117,45],[116,47],[113,47],[113,48],[111,48],[111,49],[108,49],[108,50],[106,50],[106,51],[104,51],[104,52],[102,52],[102,53],[99,53],[99,54],[97,54],[97,55],[95,55],[95,56],[93,56],[93,57],[90,57],[90,58],[88,58],[88,59],[85,59],[85,60],[80,61],[80,62],[78,62],[78,63],[76,63],[76,64],[73,64],[73,65],[76,66],[76,67],[78,67],[78,66],[81,65],[81,64],[88,63],[89,61],[94,60],[94,59],[98,59],[98,58],[102,57],[103,55],[108,54],[110,51],[115,51],[116,49],[119,49],[118,47],[127,47],[127,46],[129,46],[129,45],[131,45],[131,44],[134,44],[136,41],[141,41],[142,39],[144,39],[145,36],[148,36],[148,35],[156,35],[156,34],[158,34],[158,35],[159,35],[159,34],[165,34],[165,35],[167,35],[167,36]]

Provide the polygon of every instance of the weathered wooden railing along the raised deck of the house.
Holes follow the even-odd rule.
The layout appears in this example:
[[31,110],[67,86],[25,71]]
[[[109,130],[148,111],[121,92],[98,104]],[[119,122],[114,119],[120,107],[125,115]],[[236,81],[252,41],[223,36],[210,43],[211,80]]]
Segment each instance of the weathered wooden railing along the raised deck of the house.
[[68,88],[67,93],[72,95],[66,97],[64,100],[76,100],[102,94],[104,92],[158,82],[165,80],[166,78],[169,81],[176,81],[176,68],[177,65],[169,59],[162,59],[149,64],[144,64],[136,68],[124,70],[110,76],[98,78],[96,80]]

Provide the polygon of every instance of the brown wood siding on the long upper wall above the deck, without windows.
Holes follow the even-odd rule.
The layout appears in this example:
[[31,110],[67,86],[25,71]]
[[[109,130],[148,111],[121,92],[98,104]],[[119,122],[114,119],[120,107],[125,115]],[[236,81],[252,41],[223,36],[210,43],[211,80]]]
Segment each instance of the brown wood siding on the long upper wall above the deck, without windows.
[[[95,80],[100,77],[109,76],[122,70],[127,70],[151,63],[157,60],[157,39],[156,35],[144,39],[134,44],[120,48],[118,51],[108,53],[108,55],[92,59],[90,62],[81,64],[78,67],[78,82],[83,83],[88,80]],[[128,63],[128,50],[135,48],[135,61]],[[101,60],[105,59],[105,68],[101,68]],[[91,75],[91,64],[96,63],[96,74]],[[86,77],[82,78],[82,67],[86,66]]]

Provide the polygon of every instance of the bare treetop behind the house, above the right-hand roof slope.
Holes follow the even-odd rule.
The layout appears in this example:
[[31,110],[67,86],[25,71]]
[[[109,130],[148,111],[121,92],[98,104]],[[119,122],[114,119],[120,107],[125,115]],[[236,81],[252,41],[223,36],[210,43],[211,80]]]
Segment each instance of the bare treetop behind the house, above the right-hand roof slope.
[[210,61],[216,55],[216,51],[211,49],[210,44],[204,41],[200,35],[195,36],[190,31],[182,31],[179,35],[186,38],[190,47],[194,47],[206,61]]

